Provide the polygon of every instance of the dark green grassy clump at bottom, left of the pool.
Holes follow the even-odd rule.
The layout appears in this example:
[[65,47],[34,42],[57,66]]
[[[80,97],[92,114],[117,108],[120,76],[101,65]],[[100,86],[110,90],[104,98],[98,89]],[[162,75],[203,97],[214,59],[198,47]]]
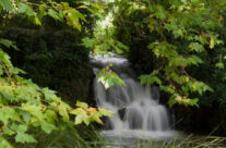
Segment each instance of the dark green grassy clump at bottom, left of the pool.
[[[88,126],[91,127],[91,126]],[[79,125],[76,128],[66,128],[64,131],[53,131],[47,135],[36,128],[35,138],[38,143],[20,144],[17,147],[22,148],[93,148],[97,147],[95,144],[102,140],[96,127],[87,128],[86,125]],[[80,132],[81,131],[81,132]],[[80,134],[81,133],[81,134]],[[86,138],[85,138],[86,137]],[[88,137],[88,138],[87,138]],[[85,139],[84,139],[85,138]]]

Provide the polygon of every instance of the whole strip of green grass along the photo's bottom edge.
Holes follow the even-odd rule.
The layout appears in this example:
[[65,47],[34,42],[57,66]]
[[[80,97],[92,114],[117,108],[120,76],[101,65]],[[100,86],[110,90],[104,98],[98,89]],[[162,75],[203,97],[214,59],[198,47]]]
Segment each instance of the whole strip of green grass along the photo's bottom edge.
[[[56,131],[50,135],[37,132],[38,143],[17,145],[16,148],[226,148],[226,137],[180,135],[165,140],[157,139],[126,139],[118,138],[118,141],[100,137],[95,127],[86,126]],[[82,136],[80,136],[80,134]],[[115,140],[117,138],[114,138]]]

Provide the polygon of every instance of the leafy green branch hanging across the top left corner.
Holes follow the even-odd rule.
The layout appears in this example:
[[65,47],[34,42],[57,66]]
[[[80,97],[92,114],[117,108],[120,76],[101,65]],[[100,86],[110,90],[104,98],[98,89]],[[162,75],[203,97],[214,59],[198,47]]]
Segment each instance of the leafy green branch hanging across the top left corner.
[[4,20],[20,15],[27,17],[36,25],[41,25],[43,18],[45,18],[45,16],[50,16],[53,20],[67,23],[69,26],[72,26],[79,30],[82,29],[81,21],[87,22],[85,16],[80,11],[87,10],[92,13],[98,13],[100,9],[102,8],[98,7],[98,4],[91,3],[90,1],[46,2],[37,0],[4,0],[0,2],[0,11],[4,15]]

